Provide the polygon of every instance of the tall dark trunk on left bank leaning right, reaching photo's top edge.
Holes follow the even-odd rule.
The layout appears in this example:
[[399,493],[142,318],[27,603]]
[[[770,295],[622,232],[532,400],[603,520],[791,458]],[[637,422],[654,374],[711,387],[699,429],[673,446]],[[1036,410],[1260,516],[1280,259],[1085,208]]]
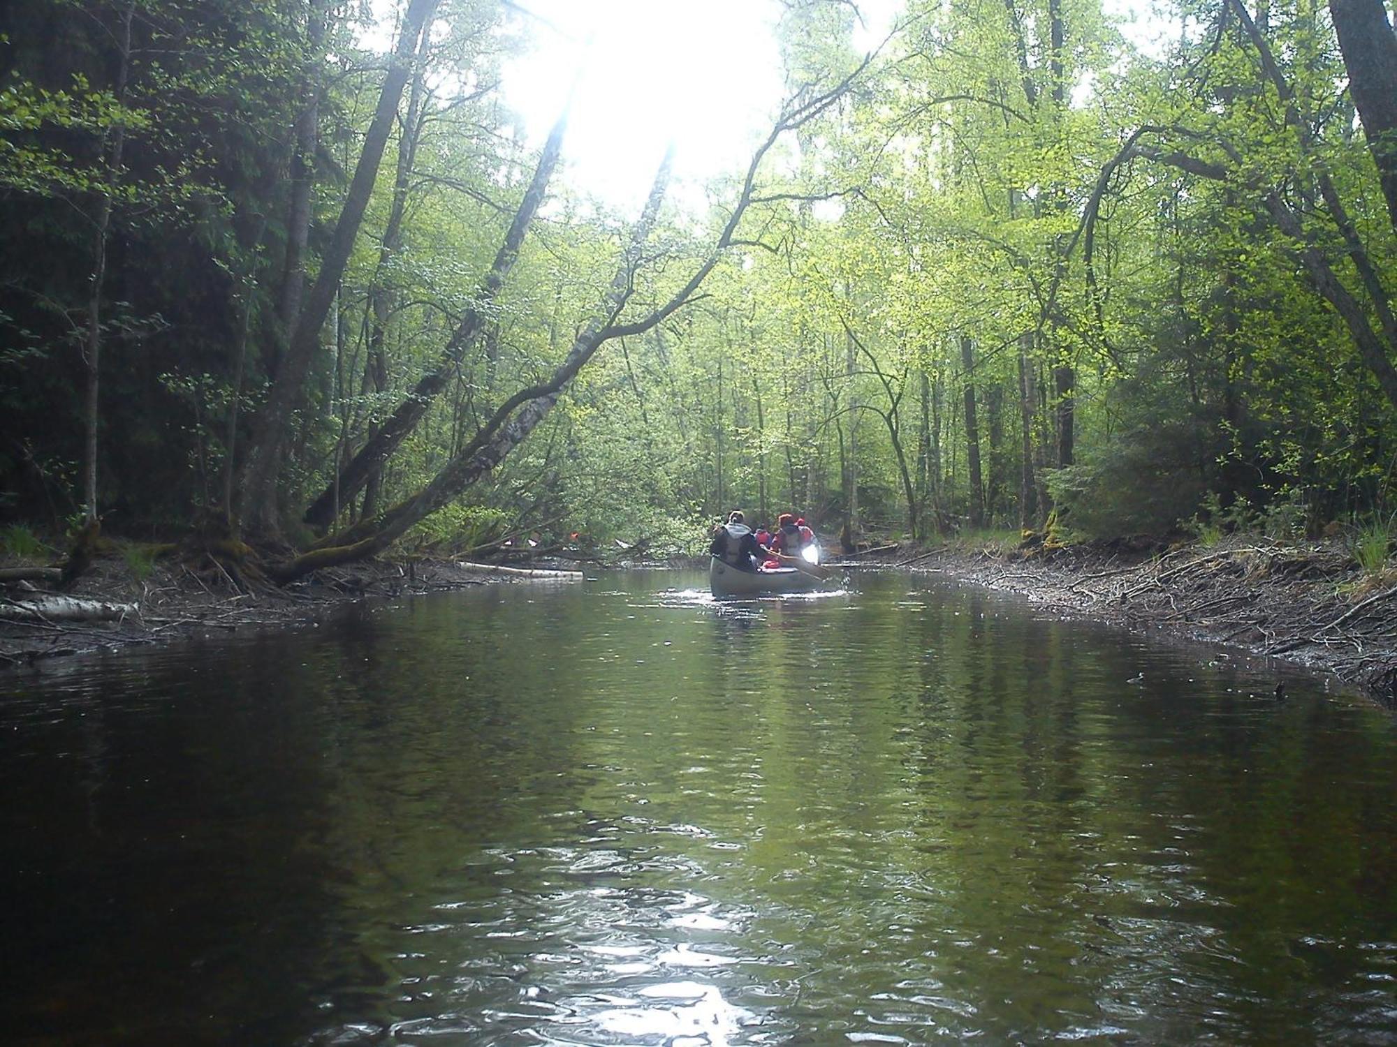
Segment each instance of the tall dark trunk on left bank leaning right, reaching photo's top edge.
[[388,144],[398,102],[402,99],[402,88],[408,82],[412,56],[418,49],[418,38],[436,6],[437,0],[412,0],[408,6],[393,61],[379,92],[379,105],[365,135],[359,163],[355,166],[339,221],[335,223],[334,237],[326,257],[321,258],[320,275],[296,318],[285,359],[278,367],[267,403],[263,406],[253,431],[243,468],[242,491],[244,522],[256,532],[275,535],[279,530],[277,479],[281,472],[286,426],[296,403],[302,399],[306,374],[310,371],[310,363],[320,345],[320,328],[324,327],[331,302],[339,289],[339,281],[349,264],[349,254],[353,250],[363,212],[369,207],[383,151]]

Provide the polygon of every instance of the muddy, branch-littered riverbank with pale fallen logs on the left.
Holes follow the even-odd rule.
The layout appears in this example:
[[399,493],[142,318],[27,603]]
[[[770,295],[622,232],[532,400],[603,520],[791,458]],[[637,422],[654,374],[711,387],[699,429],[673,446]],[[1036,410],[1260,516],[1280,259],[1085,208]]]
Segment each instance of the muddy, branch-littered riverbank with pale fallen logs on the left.
[[[521,581],[522,574],[482,574],[451,560],[366,561],[319,571],[285,588],[235,581],[212,558],[190,567],[175,558],[133,563],[98,558],[61,596],[45,579],[0,585],[0,613],[38,606],[38,614],[0,620],[0,671],[94,651],[166,644],[243,628],[292,628],[320,621],[365,599],[465,589]],[[67,618],[68,599],[99,617]],[[101,604],[101,606],[96,606]]]

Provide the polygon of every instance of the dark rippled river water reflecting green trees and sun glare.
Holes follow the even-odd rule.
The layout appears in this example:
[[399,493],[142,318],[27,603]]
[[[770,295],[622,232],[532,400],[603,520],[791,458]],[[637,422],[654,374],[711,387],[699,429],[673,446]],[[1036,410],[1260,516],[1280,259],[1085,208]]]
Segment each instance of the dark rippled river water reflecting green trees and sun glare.
[[856,581],[0,677],[0,1039],[1397,1043],[1391,713]]

